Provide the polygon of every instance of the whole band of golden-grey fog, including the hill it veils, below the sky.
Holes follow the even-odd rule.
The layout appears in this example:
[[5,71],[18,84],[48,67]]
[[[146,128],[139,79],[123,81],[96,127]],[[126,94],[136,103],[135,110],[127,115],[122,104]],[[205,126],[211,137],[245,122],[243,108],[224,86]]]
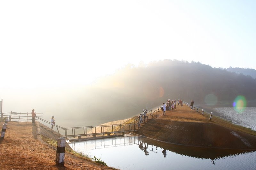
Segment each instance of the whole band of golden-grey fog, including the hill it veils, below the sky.
[[254,94],[256,80],[251,76],[201,63],[163,60],[144,67],[128,65],[91,85],[5,87],[0,97],[3,112],[31,113],[35,109],[45,120],[54,116],[62,127],[77,127],[133,117],[167,99],[232,106],[236,96],[250,101]]

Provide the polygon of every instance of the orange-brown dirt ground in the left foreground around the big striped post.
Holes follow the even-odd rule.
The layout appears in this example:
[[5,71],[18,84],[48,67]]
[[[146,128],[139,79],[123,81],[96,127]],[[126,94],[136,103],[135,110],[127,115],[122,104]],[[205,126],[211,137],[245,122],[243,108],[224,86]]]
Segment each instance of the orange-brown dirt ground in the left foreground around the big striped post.
[[111,169],[68,153],[64,166],[55,166],[56,148],[40,139],[37,127],[31,122],[8,122],[4,140],[0,142],[0,169]]

